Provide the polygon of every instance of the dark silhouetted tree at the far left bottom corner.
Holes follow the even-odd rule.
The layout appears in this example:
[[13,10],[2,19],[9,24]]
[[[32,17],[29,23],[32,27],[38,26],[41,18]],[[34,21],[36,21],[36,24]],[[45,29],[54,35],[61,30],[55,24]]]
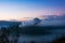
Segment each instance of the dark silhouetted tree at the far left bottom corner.
[[2,33],[0,35],[0,43],[9,43],[6,29],[4,27],[2,27],[1,31],[2,31]]

